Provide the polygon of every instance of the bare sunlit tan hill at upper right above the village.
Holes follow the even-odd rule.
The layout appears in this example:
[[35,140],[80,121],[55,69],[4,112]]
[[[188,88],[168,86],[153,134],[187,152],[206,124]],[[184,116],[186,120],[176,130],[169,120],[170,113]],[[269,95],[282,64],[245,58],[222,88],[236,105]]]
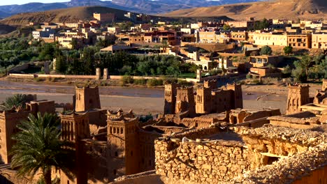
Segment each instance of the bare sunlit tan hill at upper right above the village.
[[176,10],[161,14],[166,17],[208,17],[226,15],[236,20],[246,17],[257,19],[287,18],[287,19],[327,19],[327,0],[289,0],[255,3],[238,3],[224,6],[212,6]]

